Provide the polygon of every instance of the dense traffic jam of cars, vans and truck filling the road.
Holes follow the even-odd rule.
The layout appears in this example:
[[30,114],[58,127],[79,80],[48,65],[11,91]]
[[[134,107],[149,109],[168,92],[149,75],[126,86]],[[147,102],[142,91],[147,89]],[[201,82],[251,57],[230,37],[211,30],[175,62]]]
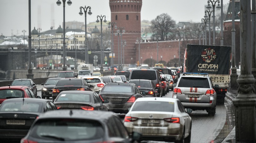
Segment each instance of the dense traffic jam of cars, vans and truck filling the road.
[[[182,67],[144,65],[103,76],[79,65],[78,74],[48,78],[41,96],[32,80],[14,80],[0,87],[0,141],[189,143],[192,111],[214,118],[224,104],[229,59],[229,46],[188,44]],[[199,66],[209,62],[216,66]]]

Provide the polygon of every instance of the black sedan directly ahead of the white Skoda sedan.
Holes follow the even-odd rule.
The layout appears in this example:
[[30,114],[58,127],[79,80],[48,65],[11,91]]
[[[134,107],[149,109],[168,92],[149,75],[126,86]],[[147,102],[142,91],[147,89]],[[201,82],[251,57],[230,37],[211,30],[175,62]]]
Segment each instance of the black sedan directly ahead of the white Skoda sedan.
[[134,83],[106,83],[99,96],[109,101],[107,106],[115,113],[127,113],[133,102],[143,97]]

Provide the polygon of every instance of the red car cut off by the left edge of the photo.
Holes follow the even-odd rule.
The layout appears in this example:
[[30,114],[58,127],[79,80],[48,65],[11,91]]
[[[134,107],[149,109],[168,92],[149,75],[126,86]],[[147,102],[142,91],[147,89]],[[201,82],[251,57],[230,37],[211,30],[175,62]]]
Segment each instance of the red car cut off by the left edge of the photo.
[[27,86],[5,86],[0,87],[0,105],[6,99],[10,98],[41,98],[36,96]]

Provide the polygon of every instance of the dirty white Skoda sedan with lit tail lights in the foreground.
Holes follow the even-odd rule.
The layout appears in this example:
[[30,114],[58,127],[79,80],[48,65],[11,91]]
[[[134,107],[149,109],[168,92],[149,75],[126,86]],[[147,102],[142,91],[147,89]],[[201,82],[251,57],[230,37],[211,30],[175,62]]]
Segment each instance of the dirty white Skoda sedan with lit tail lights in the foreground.
[[138,98],[123,123],[130,134],[140,132],[141,140],[190,142],[191,112],[178,99]]

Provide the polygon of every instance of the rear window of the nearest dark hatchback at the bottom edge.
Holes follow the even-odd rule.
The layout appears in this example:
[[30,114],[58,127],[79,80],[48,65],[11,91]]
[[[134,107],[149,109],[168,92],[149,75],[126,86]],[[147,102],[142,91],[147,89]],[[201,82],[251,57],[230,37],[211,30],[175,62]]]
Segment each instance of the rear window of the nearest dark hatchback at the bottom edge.
[[83,119],[39,120],[31,130],[33,137],[56,141],[98,139],[104,135],[101,123]]

